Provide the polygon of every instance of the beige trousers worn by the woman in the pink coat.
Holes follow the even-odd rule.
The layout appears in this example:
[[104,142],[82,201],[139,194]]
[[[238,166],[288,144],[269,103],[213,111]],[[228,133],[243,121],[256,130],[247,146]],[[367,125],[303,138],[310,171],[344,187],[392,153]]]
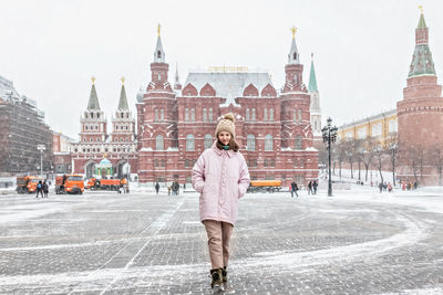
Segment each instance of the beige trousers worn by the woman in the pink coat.
[[203,223],[205,224],[208,236],[209,256],[213,270],[228,266],[233,224],[215,220],[205,220]]

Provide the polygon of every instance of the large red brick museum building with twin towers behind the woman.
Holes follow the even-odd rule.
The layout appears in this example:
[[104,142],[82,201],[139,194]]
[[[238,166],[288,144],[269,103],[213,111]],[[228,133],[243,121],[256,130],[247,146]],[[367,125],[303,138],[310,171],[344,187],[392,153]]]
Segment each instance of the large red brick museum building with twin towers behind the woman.
[[306,183],[318,177],[311,95],[295,35],[280,91],[268,73],[245,69],[190,72],[183,87],[177,73],[169,83],[168,70],[158,34],[152,80],[136,103],[140,181],[189,182],[194,162],[215,140],[218,118],[229,112],[251,179],[281,179],[286,186],[291,179]]

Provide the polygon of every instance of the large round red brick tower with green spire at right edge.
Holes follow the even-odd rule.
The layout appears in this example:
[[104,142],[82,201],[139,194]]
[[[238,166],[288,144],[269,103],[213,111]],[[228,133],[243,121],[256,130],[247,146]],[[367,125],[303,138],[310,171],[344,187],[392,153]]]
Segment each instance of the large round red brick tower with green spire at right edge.
[[[396,175],[402,181],[420,181],[420,185],[443,185],[435,167],[425,166],[420,179],[412,176],[411,157],[414,150],[433,152],[443,147],[443,97],[437,84],[434,62],[429,45],[429,28],[421,9],[415,29],[415,49],[410,64],[403,99],[396,103],[400,159]],[[412,156],[411,156],[412,155]],[[439,183],[440,182],[440,183]]]

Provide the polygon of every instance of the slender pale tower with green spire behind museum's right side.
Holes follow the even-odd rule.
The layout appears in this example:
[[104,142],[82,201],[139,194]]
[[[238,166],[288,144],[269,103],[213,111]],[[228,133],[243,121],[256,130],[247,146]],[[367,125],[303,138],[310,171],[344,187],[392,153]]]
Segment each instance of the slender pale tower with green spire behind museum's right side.
[[313,140],[321,141],[320,94],[317,86],[316,69],[313,67],[313,53],[311,54],[311,72],[309,74],[308,92],[311,95],[310,115]]

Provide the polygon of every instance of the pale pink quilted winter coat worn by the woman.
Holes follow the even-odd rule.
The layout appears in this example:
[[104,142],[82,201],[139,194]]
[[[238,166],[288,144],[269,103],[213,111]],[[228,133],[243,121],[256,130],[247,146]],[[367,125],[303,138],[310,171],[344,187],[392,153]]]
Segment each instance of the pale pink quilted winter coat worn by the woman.
[[249,187],[249,172],[239,151],[220,150],[214,143],[193,168],[193,187],[200,193],[200,220],[235,224],[238,199]]

